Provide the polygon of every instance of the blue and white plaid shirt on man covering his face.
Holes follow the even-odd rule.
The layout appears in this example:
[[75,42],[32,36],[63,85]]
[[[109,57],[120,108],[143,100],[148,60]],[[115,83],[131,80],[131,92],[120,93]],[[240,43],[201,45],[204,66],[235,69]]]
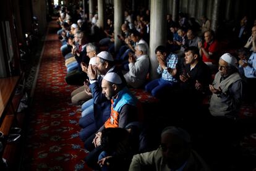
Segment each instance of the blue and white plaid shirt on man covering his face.
[[[178,59],[177,54],[173,54],[173,53],[169,54],[169,56],[165,60],[166,67],[171,68],[171,69],[176,69],[177,59]],[[163,70],[160,65],[158,65],[157,72],[159,74],[162,74],[163,80],[167,80],[167,81],[171,81],[171,82],[177,83],[176,78],[174,78],[168,72],[167,69]]]

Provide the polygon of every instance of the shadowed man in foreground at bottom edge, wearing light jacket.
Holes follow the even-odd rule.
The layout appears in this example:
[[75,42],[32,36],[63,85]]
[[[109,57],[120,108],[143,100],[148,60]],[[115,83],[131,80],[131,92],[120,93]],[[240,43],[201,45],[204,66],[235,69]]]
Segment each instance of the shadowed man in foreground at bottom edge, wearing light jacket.
[[189,133],[176,127],[164,128],[158,149],[134,155],[129,170],[139,171],[145,166],[157,171],[210,170],[197,152],[191,149]]

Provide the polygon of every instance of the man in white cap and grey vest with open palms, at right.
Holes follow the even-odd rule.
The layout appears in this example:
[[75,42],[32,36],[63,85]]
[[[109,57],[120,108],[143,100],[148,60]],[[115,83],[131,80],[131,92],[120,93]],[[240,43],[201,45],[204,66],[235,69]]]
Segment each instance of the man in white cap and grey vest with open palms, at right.
[[213,93],[209,107],[211,115],[236,117],[242,100],[242,78],[236,67],[236,59],[231,54],[220,57],[219,72],[209,88]]

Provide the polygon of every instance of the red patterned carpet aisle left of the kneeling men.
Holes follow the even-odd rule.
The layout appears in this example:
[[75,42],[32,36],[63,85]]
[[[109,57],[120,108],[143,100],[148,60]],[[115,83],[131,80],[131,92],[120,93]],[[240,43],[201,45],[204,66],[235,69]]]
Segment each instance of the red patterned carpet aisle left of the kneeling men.
[[79,107],[70,103],[75,89],[64,81],[66,67],[58,25],[49,23],[25,146],[24,170],[90,170],[83,159],[87,151],[79,139]]

